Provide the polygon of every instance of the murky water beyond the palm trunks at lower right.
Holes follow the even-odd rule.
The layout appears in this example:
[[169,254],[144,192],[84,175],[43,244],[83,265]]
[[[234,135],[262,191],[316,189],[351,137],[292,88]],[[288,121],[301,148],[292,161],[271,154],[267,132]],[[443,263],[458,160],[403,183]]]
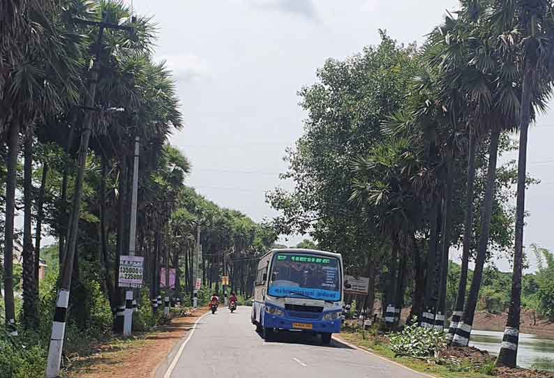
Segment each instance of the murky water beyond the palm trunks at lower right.
[[[486,350],[497,356],[502,332],[472,331],[470,346]],[[554,339],[540,335],[519,334],[518,366],[554,371]]]

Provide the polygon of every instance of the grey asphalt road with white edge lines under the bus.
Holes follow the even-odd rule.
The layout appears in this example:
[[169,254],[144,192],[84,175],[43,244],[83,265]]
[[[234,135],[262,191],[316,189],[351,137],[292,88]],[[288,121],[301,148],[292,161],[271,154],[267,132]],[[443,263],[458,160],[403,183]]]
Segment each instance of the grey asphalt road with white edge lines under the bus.
[[250,308],[219,308],[197,323],[170,378],[421,378],[411,370],[318,338],[280,333],[265,342],[250,324]]

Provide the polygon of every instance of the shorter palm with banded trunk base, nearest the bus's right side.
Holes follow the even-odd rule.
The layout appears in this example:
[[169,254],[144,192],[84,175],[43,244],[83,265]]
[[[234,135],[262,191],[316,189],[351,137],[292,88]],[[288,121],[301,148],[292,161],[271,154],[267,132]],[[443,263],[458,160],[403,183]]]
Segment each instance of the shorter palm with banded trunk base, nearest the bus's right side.
[[366,217],[373,218],[374,227],[387,236],[392,248],[386,296],[386,317],[391,326],[398,322],[396,309],[399,312],[403,305],[407,248],[421,224],[421,202],[412,184],[419,169],[414,146],[418,145],[410,137],[391,137],[352,167],[356,179],[352,181],[351,200],[361,206]]

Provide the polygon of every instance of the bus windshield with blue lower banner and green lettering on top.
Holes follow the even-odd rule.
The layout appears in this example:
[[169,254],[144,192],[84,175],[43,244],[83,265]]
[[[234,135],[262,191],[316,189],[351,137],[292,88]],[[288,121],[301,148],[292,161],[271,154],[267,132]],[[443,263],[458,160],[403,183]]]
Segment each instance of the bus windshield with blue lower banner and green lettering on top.
[[271,266],[267,294],[340,301],[340,266],[336,257],[277,253]]

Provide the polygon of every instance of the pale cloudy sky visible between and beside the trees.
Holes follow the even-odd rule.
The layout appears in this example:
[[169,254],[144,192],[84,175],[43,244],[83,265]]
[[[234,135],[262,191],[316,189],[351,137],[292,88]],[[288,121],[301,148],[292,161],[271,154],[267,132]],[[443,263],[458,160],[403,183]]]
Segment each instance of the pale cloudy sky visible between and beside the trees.
[[[126,0],[131,3],[130,0]],[[456,0],[133,0],[158,24],[155,57],[174,71],[186,126],[170,142],[193,164],[188,185],[255,221],[276,213],[264,193],[285,172],[285,149],[306,114],[297,91],[315,82],[326,59],[345,59],[379,43],[385,29],[421,44]],[[528,170],[543,183],[527,190],[525,245],[554,249],[554,113],[541,116],[528,144]],[[505,161],[513,156],[501,158]],[[298,243],[302,236],[284,241]],[[456,252],[453,252],[456,257]],[[497,266],[507,271],[509,262]],[[534,266],[534,259],[532,259]]]

